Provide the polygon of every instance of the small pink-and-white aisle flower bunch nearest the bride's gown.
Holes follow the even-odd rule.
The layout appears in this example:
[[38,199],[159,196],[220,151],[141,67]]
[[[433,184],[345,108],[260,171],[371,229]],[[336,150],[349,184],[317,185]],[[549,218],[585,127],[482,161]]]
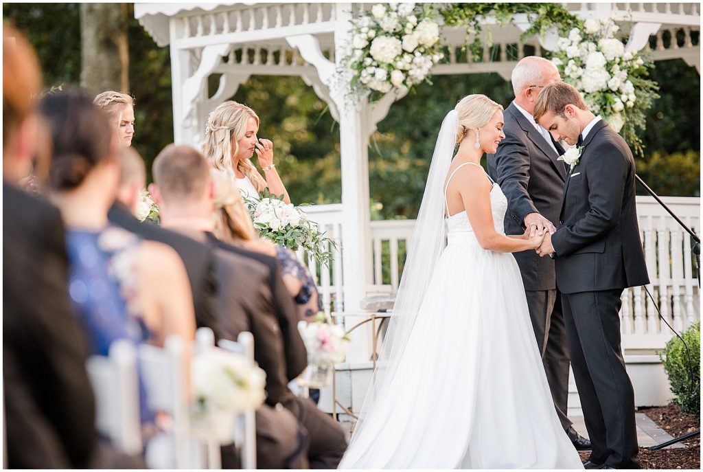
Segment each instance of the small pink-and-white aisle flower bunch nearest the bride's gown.
[[308,364],[325,367],[344,362],[349,347],[349,336],[341,326],[326,319],[323,312],[318,313],[314,321],[301,321],[298,331],[305,343]]

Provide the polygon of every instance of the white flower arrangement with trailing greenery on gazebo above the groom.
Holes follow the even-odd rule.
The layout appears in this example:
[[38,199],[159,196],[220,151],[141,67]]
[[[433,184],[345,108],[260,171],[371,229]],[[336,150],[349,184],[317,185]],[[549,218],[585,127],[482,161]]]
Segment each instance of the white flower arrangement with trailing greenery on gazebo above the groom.
[[647,79],[652,61],[625,51],[618,29],[610,18],[589,18],[583,30],[573,28],[559,39],[552,62],[564,81],[583,94],[588,108],[641,153],[636,127],[644,128],[645,110],[659,96],[656,84]]

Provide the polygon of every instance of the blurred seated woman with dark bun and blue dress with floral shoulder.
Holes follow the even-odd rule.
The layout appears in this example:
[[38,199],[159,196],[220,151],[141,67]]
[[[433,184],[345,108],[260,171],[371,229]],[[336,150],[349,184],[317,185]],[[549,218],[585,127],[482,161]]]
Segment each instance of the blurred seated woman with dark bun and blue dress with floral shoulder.
[[[77,89],[45,96],[39,110],[51,132],[50,196],[67,227],[70,300],[89,352],[107,355],[120,338],[162,346],[176,335],[187,345],[195,317],[178,255],[108,223],[120,167],[107,117]],[[183,356],[188,366],[189,356]],[[148,424],[143,388],[141,397]]]

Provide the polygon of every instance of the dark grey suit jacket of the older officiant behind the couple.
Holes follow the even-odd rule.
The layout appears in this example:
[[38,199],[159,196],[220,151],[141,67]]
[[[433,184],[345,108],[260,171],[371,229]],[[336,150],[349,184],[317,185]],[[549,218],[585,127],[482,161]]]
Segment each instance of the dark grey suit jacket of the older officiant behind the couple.
[[[505,234],[521,234],[524,217],[538,212],[558,226],[562,190],[567,177],[558,143],[557,151],[535,129],[514,103],[503,114],[505,139],[496,154],[486,156],[489,175],[498,182],[508,198]],[[556,288],[554,262],[539,257],[534,250],[514,253],[520,266],[525,290],[544,291]]]

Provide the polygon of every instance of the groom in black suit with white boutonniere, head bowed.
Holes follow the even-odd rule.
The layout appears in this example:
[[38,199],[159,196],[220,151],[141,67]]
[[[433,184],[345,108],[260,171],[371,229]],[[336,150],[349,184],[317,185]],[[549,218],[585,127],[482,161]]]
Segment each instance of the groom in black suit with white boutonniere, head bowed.
[[555,259],[572,369],[593,446],[584,466],[640,468],[618,317],[624,288],[649,283],[635,205],[635,161],[624,139],[569,84],[544,87],[534,118],[555,140],[578,144],[580,151],[568,156],[560,227],[537,252]]

